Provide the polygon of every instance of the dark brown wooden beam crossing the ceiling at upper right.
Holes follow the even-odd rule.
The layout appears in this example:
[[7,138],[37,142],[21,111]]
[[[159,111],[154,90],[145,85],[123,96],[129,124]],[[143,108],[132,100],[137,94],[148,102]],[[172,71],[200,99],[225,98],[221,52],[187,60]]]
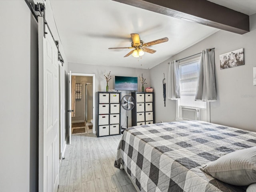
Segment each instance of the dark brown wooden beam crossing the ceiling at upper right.
[[249,16],[207,0],[114,0],[214,28],[245,34]]

